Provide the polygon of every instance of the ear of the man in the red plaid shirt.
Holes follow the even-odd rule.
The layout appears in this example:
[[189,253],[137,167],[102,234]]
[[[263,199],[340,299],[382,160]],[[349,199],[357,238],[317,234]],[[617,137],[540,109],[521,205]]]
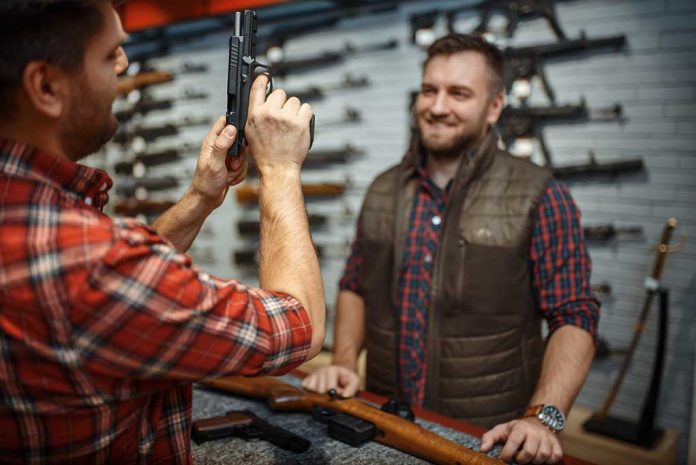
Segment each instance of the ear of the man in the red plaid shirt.
[[34,110],[49,118],[60,118],[67,106],[68,75],[44,61],[32,61],[22,74],[22,89]]

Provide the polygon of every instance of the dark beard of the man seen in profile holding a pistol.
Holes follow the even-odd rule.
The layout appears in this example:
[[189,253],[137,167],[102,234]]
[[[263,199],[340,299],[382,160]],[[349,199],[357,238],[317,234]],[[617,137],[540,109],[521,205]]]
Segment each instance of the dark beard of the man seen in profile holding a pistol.
[[118,120],[111,112],[112,95],[99,95],[84,77],[71,89],[60,143],[73,161],[99,151],[116,134]]

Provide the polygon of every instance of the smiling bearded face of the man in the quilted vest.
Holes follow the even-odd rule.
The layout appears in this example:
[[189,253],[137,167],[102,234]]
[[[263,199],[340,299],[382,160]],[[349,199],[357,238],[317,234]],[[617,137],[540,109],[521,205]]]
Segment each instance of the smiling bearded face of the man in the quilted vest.
[[459,157],[483,139],[502,106],[503,96],[491,95],[481,54],[433,56],[423,70],[414,107],[423,146],[434,157]]

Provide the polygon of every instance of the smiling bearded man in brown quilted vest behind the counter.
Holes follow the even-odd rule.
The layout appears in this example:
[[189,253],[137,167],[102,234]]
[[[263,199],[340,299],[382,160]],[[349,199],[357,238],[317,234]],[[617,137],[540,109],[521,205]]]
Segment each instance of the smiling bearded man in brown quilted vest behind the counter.
[[[370,186],[336,305],[333,364],[309,389],[367,389],[493,427],[482,450],[555,463],[594,355],[599,306],[580,215],[551,173],[498,148],[503,58],[478,36],[434,42],[416,134]],[[546,342],[541,320],[548,322]]]

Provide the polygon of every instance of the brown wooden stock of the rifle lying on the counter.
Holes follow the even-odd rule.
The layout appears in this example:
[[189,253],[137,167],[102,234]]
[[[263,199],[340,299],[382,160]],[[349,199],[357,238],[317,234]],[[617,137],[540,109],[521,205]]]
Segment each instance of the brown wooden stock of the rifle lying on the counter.
[[272,410],[311,411],[312,407],[318,406],[334,412],[347,413],[373,423],[378,431],[375,441],[436,464],[503,463],[357,399],[340,399],[308,392],[270,377],[208,379],[202,384],[232,394],[266,399]]

